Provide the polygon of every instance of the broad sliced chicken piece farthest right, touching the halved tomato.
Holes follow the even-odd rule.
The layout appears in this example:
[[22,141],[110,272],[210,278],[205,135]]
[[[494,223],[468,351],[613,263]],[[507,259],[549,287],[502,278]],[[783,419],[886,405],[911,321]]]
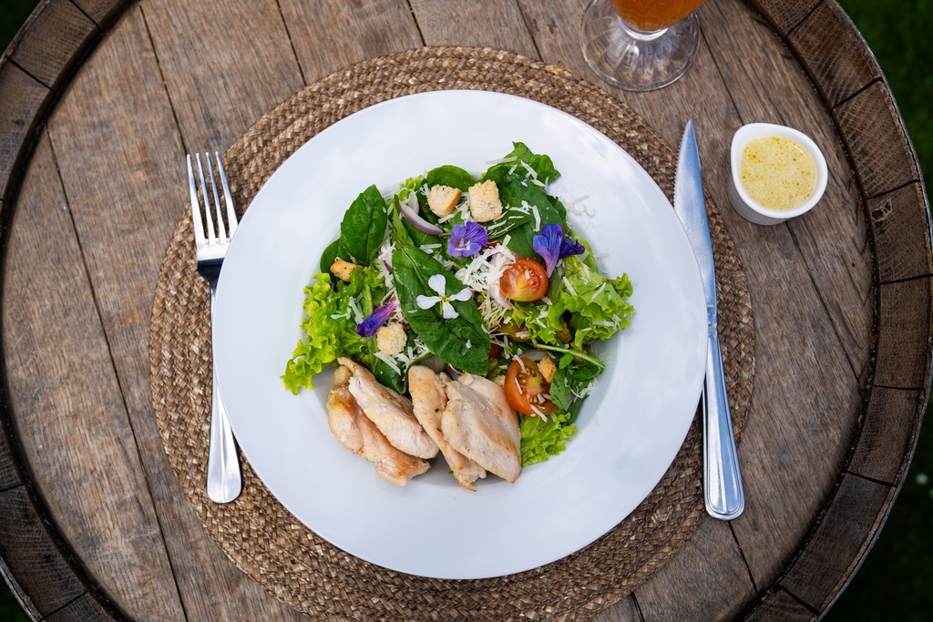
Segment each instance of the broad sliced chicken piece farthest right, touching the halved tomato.
[[518,416],[498,384],[464,374],[448,381],[447,408],[440,431],[460,453],[487,471],[514,483],[522,473]]

